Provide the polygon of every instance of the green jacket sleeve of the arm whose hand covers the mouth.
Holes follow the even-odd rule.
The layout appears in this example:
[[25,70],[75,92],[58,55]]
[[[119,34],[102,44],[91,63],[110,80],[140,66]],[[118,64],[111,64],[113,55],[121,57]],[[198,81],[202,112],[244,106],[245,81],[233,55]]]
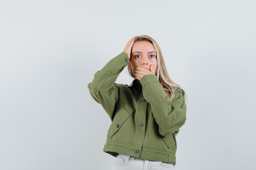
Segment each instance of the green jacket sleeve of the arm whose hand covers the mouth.
[[186,103],[182,89],[177,88],[174,98],[170,101],[156,75],[144,75],[140,83],[143,96],[150,104],[155,121],[159,125],[159,134],[167,137],[179,130],[186,121]]

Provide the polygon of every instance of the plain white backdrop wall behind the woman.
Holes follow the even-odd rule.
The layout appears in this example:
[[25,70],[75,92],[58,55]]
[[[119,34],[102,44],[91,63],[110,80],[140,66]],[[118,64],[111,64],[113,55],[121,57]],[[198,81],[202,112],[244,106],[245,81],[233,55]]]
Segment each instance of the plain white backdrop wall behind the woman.
[[[135,35],[187,93],[176,170],[255,170],[255,0],[0,2],[0,170],[111,170],[87,84]],[[117,83],[130,84],[126,69]]]

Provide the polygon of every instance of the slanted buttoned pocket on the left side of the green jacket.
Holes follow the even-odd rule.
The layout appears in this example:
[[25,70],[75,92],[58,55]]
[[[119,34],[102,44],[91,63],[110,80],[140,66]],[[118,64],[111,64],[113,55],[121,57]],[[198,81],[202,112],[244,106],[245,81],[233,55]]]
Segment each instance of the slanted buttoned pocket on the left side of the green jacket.
[[130,117],[130,113],[126,111],[125,108],[121,108],[117,113],[115,113],[115,117],[112,121],[112,124],[110,125],[108,129],[108,137],[112,138],[113,135],[121,128],[121,126],[124,124],[126,119]]

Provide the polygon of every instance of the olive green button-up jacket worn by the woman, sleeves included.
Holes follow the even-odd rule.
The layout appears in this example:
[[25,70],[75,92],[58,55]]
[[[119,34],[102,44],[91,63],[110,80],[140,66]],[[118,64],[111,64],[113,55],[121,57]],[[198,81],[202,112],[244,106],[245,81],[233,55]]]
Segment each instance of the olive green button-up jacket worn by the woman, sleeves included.
[[88,84],[90,95],[101,104],[112,124],[103,151],[139,159],[176,164],[176,135],[186,121],[184,91],[175,90],[170,101],[154,74],[115,83],[129,62],[125,52],[112,58]]

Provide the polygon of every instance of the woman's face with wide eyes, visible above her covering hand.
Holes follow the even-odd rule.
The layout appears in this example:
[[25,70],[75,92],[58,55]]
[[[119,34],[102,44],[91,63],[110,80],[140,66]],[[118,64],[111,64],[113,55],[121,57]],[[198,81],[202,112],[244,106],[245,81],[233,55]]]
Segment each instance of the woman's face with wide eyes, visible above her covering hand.
[[132,46],[129,65],[132,70],[135,67],[143,67],[149,70],[150,65],[153,65],[152,72],[157,71],[157,54],[153,44],[148,41],[137,41]]

